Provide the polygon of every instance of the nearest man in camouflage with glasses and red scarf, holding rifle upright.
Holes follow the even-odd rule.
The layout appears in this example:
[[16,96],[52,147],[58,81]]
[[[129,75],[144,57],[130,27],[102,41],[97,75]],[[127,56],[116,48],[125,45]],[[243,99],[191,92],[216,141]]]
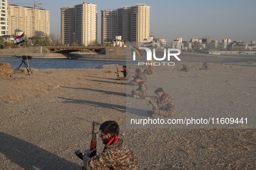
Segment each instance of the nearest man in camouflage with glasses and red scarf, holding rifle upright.
[[96,149],[87,149],[83,153],[86,170],[137,170],[137,157],[134,152],[118,138],[119,126],[115,121],[106,121],[100,125],[100,137],[105,144],[104,150],[89,157]]

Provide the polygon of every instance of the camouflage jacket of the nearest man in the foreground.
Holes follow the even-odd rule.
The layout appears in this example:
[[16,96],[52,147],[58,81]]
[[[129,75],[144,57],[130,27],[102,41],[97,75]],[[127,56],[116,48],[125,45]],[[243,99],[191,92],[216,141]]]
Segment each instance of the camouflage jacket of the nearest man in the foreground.
[[137,170],[137,157],[134,152],[118,139],[117,143],[106,145],[100,154],[87,161],[86,170]]

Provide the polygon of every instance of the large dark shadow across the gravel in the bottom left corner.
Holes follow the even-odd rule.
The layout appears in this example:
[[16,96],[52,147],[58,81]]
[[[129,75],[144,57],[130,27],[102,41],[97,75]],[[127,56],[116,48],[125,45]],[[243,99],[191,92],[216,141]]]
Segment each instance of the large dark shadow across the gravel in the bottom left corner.
[[[81,169],[81,166],[78,164],[67,161],[36,145],[2,132],[0,132],[0,152],[14,164],[25,170]],[[0,169],[2,168],[4,169],[4,167]]]

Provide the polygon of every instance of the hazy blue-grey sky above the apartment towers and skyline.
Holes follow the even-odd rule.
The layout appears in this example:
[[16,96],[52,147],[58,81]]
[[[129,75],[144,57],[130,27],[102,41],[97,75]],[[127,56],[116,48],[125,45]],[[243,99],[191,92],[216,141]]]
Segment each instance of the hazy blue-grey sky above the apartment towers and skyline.
[[[165,38],[171,42],[176,38],[190,41],[191,38],[208,38],[222,41],[256,40],[256,1],[255,0],[37,0],[42,3],[45,10],[50,11],[50,33],[61,35],[62,7],[75,6],[81,3],[93,3],[97,5],[97,41],[100,42],[100,11],[105,9],[118,9],[123,6],[134,6],[138,3],[151,6],[150,9],[150,35],[156,38]],[[9,0],[9,4],[33,3],[29,0]],[[17,4],[23,6],[23,4]],[[33,6],[26,5],[24,6]]]

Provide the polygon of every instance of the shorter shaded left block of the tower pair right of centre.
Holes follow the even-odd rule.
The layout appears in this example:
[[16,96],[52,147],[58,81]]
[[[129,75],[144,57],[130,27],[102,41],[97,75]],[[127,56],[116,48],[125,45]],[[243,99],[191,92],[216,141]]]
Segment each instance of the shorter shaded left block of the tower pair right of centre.
[[117,10],[101,11],[101,43],[117,36]]

